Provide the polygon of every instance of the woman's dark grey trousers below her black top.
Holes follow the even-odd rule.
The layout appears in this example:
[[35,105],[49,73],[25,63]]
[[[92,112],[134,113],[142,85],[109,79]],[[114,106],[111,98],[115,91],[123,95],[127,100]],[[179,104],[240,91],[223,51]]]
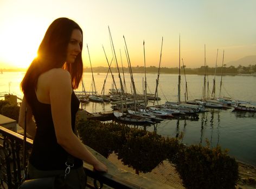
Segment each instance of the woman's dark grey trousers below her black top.
[[[28,164],[28,178],[37,179],[44,177],[54,177],[65,175],[65,170],[52,170],[52,171],[42,171],[37,170],[33,165]],[[66,184],[68,188],[73,189],[84,189],[86,187],[87,177],[84,171],[84,168],[81,166],[79,168],[71,169],[67,178]]]

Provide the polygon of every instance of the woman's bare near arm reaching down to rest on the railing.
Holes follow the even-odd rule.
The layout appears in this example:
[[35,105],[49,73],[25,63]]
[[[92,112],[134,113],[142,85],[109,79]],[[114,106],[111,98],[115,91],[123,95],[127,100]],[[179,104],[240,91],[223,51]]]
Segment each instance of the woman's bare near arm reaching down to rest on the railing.
[[92,164],[98,171],[107,171],[107,167],[100,163],[72,131],[71,126],[71,77],[63,69],[55,69],[49,86],[49,97],[52,108],[57,143],[72,156]]

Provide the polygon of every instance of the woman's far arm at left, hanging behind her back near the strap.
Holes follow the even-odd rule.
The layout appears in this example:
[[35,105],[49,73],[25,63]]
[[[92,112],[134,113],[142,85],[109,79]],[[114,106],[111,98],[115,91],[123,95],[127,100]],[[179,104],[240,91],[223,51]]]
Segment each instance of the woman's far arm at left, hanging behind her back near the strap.
[[[27,107],[27,113],[25,113]],[[28,105],[25,97],[22,99],[20,114],[18,116],[18,124],[24,129],[25,127],[25,116],[26,116],[26,124],[27,124],[27,133],[34,139],[36,134],[36,124],[33,120],[33,113],[31,107]]]

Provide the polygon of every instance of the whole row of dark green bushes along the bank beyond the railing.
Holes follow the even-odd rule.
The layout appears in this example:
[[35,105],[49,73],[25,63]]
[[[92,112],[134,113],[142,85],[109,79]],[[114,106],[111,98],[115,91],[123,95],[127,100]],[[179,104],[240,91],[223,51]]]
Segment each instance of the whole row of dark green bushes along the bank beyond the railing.
[[186,188],[234,188],[238,179],[238,163],[220,146],[185,146],[176,138],[97,120],[80,119],[76,126],[86,145],[106,158],[117,153],[118,159],[136,172],[150,172],[168,159]]

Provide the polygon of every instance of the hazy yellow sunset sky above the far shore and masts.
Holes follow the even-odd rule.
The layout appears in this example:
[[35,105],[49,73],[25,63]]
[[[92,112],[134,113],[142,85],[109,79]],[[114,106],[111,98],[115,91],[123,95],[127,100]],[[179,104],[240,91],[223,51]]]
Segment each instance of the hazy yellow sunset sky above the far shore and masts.
[[0,69],[27,68],[50,23],[59,17],[76,21],[84,31],[82,57],[89,66],[107,66],[112,58],[108,26],[118,64],[120,52],[127,67],[124,39],[132,66],[158,66],[163,37],[163,67],[178,66],[181,58],[188,68],[218,65],[225,50],[225,63],[256,55],[255,0],[0,0]]

